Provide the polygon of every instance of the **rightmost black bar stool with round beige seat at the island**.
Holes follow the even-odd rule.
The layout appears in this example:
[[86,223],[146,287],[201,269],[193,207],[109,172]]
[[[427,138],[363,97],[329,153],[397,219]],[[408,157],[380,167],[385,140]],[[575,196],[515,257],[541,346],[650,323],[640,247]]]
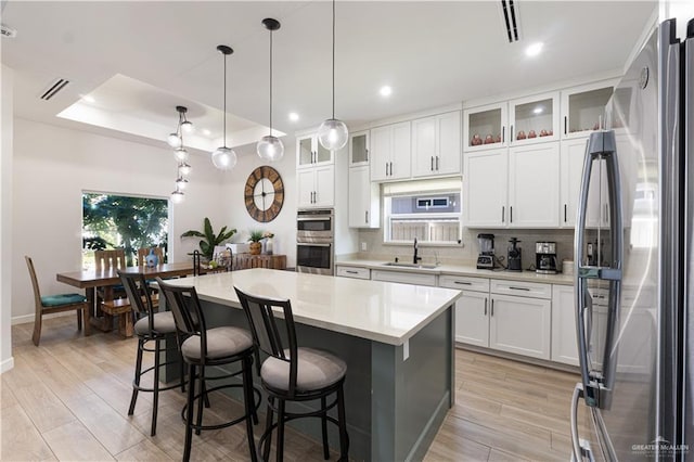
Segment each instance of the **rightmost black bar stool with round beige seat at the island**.
[[[277,428],[277,460],[284,457],[284,424],[299,418],[320,418],[323,457],[330,458],[327,422],[339,431],[339,459],[347,460],[349,437],[345,420],[343,384],[347,364],[340,358],[314,348],[298,347],[292,304],[288,299],[269,299],[246,294],[234,287],[246,313],[256,347],[268,355],[260,367],[262,387],[268,394],[266,431],[260,437],[262,459],[270,455],[272,432]],[[280,313],[283,319],[278,319]],[[280,326],[284,325],[284,329]],[[327,398],[335,394],[335,400]],[[287,412],[287,401],[319,401],[320,408],[308,412]],[[337,407],[337,419],[327,411]],[[274,413],[278,421],[274,423]]]

